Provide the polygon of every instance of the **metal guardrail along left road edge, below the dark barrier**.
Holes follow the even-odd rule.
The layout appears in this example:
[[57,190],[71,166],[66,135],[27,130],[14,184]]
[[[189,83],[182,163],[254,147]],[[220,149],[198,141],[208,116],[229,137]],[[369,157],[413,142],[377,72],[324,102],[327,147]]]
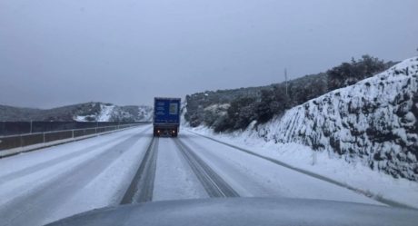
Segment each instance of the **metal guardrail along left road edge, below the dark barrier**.
[[0,137],[0,152],[25,147],[38,143],[46,142],[55,142],[65,139],[76,139],[81,138],[87,135],[94,135],[99,133],[106,133],[115,130],[125,129],[143,123],[133,123],[133,124],[119,124],[112,126],[102,126],[102,127],[93,127],[93,128],[84,128],[84,129],[74,129],[74,130],[64,130],[64,131],[52,131],[44,133],[26,133],[18,135],[10,135]]

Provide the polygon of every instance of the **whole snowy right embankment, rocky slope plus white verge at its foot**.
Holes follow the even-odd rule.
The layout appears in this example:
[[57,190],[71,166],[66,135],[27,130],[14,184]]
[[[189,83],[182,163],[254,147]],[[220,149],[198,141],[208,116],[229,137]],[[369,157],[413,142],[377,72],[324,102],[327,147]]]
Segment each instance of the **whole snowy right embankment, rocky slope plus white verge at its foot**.
[[417,90],[414,57],[244,132],[194,131],[418,207]]

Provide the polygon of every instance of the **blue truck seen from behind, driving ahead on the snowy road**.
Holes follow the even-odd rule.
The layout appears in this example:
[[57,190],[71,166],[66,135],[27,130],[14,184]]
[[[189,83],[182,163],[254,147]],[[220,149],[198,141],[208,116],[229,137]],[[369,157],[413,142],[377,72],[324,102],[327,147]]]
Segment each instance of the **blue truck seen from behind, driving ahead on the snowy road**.
[[180,98],[154,98],[154,136],[176,137],[180,127]]

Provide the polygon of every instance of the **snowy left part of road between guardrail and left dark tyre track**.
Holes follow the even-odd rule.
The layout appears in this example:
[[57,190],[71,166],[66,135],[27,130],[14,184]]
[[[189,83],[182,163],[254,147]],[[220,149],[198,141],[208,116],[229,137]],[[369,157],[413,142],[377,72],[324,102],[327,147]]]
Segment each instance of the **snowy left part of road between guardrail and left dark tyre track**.
[[[0,172],[8,173],[2,173],[0,177],[0,225],[27,225],[27,222],[43,225],[81,211],[118,203],[110,203],[119,195],[118,184],[124,184],[118,178],[127,176],[125,168],[134,167],[139,161],[138,152],[144,150],[147,140],[144,135],[149,131],[149,125],[139,126],[1,159]],[[62,158],[72,153],[77,156]],[[59,163],[55,164],[55,161]],[[116,162],[118,166],[114,166]],[[14,164],[17,167],[10,170]],[[26,171],[36,166],[39,170]],[[129,173],[132,171],[129,169]],[[21,175],[20,172],[26,173]],[[11,173],[17,173],[16,178],[5,180]],[[90,197],[95,197],[95,201]]]

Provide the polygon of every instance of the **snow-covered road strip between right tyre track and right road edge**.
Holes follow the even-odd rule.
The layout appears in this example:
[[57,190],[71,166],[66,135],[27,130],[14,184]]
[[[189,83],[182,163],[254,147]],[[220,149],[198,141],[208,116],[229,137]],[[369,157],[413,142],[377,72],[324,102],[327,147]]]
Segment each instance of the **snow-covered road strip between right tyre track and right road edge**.
[[[183,133],[205,162],[217,169],[242,196],[278,196],[380,204],[356,192],[294,172],[193,133]],[[245,192],[244,192],[245,191]],[[326,192],[325,192],[326,191]]]

